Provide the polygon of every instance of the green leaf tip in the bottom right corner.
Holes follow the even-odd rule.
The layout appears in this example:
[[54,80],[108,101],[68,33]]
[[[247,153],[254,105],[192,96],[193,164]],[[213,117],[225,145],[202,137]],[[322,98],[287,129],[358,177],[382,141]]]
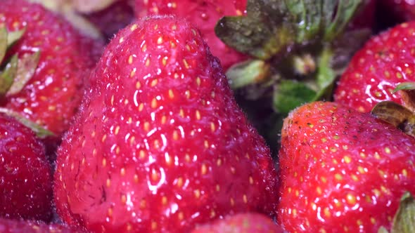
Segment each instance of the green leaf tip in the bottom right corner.
[[[415,232],[415,200],[409,192],[405,192],[400,200],[400,206],[395,214],[390,233]],[[381,227],[378,233],[388,233],[385,227]]]

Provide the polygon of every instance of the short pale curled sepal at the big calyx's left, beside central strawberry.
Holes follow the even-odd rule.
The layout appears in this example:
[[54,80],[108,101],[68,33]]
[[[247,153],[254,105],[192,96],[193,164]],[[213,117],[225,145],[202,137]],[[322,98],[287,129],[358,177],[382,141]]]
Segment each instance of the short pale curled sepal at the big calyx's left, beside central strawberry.
[[269,75],[269,65],[263,60],[247,60],[230,67],[226,72],[231,88],[257,84]]

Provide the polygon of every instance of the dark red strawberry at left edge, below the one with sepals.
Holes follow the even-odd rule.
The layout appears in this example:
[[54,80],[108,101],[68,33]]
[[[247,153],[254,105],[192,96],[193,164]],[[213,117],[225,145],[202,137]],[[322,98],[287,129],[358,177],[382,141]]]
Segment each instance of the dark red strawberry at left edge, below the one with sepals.
[[33,131],[0,114],[0,216],[50,220],[51,173]]

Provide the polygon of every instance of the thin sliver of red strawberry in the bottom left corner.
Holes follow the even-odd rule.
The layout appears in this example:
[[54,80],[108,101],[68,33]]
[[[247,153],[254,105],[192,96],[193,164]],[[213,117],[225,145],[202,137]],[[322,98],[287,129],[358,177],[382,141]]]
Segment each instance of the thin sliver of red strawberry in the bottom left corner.
[[10,220],[0,218],[1,233],[80,233],[79,229],[72,229],[65,225],[51,224],[46,225],[43,222]]

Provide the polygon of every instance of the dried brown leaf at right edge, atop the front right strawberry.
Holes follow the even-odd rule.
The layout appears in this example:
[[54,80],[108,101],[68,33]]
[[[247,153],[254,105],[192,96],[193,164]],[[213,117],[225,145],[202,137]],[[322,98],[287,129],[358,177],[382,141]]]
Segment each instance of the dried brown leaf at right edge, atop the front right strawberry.
[[371,114],[415,137],[415,114],[406,107],[396,102],[382,101],[373,107]]

